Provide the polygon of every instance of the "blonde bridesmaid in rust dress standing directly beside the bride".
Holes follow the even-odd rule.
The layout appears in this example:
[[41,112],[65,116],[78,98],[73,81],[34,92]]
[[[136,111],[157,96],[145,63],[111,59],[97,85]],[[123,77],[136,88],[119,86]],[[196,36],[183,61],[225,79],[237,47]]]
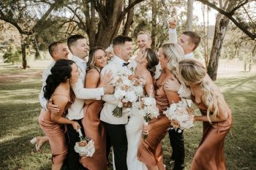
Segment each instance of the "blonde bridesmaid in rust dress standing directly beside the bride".
[[165,169],[162,158],[162,139],[167,134],[167,129],[170,128],[170,120],[163,115],[170,104],[180,101],[178,93],[165,90],[165,82],[173,76],[173,71],[176,70],[176,63],[181,61],[184,52],[176,44],[165,42],[159,48],[159,62],[162,67],[162,73],[156,82],[156,101],[159,109],[159,117],[152,119],[144,131],[148,131],[148,138],[141,140],[138,147],[138,159],[146,164],[148,170]]

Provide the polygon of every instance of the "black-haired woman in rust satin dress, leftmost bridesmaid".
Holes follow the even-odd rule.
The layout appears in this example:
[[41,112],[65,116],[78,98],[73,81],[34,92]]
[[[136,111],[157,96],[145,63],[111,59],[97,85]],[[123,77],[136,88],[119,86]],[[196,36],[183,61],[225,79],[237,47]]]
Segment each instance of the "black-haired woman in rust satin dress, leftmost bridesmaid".
[[52,114],[50,111],[41,109],[39,125],[50,142],[53,155],[52,169],[57,170],[61,169],[67,155],[64,124],[72,124],[76,131],[80,128],[77,122],[65,118],[67,108],[75,99],[71,85],[78,82],[79,71],[74,61],[61,59],[56,61],[50,72],[44,87],[44,96],[48,100],[52,98],[53,103],[59,106],[60,111],[57,114]]

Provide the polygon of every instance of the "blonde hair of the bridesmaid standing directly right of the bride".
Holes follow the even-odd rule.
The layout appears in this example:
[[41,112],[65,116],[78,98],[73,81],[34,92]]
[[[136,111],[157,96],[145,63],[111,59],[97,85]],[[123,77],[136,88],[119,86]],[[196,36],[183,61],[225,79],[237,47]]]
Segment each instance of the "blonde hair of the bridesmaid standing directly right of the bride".
[[181,46],[171,42],[164,42],[162,50],[165,58],[168,59],[167,69],[169,69],[170,72],[176,71],[178,61],[184,58],[184,50]]

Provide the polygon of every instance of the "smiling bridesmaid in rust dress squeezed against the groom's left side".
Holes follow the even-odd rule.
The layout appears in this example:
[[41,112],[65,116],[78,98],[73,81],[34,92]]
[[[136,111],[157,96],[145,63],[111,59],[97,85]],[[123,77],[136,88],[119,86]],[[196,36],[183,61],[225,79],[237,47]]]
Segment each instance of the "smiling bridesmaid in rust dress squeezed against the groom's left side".
[[[86,72],[86,88],[100,87],[100,71],[107,64],[108,57],[102,47],[94,47],[89,52],[89,61]],[[99,120],[103,101],[86,100],[84,107],[83,128],[86,136],[94,140],[95,152],[92,157],[81,157],[80,163],[87,169],[107,170],[106,135],[105,129]]]

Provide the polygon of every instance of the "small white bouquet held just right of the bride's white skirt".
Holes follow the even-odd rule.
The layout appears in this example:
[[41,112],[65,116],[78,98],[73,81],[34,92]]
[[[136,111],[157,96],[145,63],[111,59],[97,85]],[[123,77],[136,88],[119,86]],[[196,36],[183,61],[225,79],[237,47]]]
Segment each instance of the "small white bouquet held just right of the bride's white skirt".
[[[159,110],[157,108],[157,101],[155,98],[149,96],[141,98],[140,100],[140,115],[144,118],[144,125],[148,125],[148,122],[159,115]],[[147,139],[148,134],[142,134],[143,139]]]

